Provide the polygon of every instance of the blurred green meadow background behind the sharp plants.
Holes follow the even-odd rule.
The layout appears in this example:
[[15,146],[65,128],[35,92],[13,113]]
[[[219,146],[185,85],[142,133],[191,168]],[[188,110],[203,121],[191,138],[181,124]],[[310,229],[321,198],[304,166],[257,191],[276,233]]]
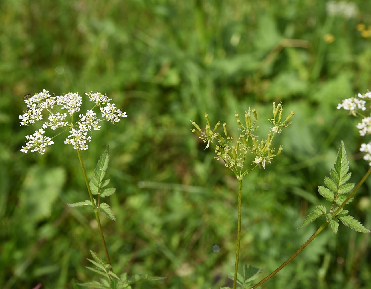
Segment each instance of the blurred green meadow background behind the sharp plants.
[[[276,269],[323,221],[296,230],[325,204],[317,186],[341,139],[351,181],[368,169],[358,120],[336,110],[370,88],[371,3],[353,3],[349,17],[320,0],[2,0],[0,287],[72,288],[98,279],[85,269],[89,248],[104,257],[92,212],[66,205],[88,199],[66,136],[43,156],[19,151],[36,129],[19,126],[23,95],[44,88],[98,90],[129,115],[94,131],[83,158],[91,175],[110,145],[117,221],[101,219],[115,272],[167,277],[135,288],[231,285],[237,180],[204,150],[190,119],[204,126],[207,111],[236,135],[235,111],[255,107],[265,135],[273,101],[283,101],[285,116],[295,110],[275,139],[282,155],[243,187],[240,264],[264,269],[262,278]],[[348,206],[367,228],[370,186]],[[326,228],[262,288],[370,288],[369,248],[370,235]]]

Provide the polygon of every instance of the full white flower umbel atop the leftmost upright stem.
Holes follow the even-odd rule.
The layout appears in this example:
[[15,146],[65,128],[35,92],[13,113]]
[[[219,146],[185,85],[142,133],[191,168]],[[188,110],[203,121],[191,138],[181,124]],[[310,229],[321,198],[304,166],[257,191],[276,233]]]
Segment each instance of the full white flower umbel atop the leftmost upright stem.
[[[86,95],[89,96],[89,100],[94,106],[85,114],[79,114],[78,119],[75,120],[73,119],[73,114],[80,111],[82,104],[82,97],[78,93],[70,92],[60,96],[51,96],[49,91],[43,90],[32,96],[26,95],[24,102],[27,110],[19,116],[21,120],[20,125],[27,126],[41,123],[42,128],[36,130],[34,134],[26,135],[26,146],[22,146],[20,151],[27,153],[30,150],[32,153],[38,152],[40,155],[43,155],[45,147],[54,143],[52,139],[55,136],[44,136],[45,131],[43,129],[48,127],[52,131],[59,127],[68,127],[65,131],[69,130],[69,135],[64,143],[72,144],[74,149],[87,150],[89,147],[87,143],[91,142],[91,135],[88,135],[88,133],[91,133],[92,130],[100,130],[101,121],[107,120],[115,123],[120,118],[128,116],[125,112],[118,109],[114,103],[111,104],[109,101],[112,98],[109,98],[106,94],[91,92],[89,94],[86,93]],[[68,113],[63,111],[53,112],[52,110],[57,107],[60,110],[68,111]],[[102,119],[96,116],[93,110],[95,107],[99,107]],[[48,114],[47,121],[44,121],[43,112]],[[70,121],[66,120],[66,118],[70,118]]]

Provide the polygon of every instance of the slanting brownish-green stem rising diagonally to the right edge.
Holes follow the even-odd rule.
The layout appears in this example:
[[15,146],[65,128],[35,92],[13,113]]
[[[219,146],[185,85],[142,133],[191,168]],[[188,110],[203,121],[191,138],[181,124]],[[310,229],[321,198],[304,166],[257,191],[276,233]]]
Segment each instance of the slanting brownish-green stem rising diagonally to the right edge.
[[[349,199],[351,199],[353,197],[353,195],[355,194],[355,192],[358,191],[359,187],[364,183],[364,181],[367,179],[367,177],[370,175],[370,173],[371,173],[371,168],[363,176],[363,178],[361,179],[361,181],[359,181],[359,183],[357,184],[357,186],[355,186],[355,188],[353,189],[353,191],[351,192],[351,194],[349,194],[349,196],[344,200],[344,202],[341,204],[341,206],[339,206],[339,208],[335,212],[332,213],[332,216],[335,216],[341,210],[341,208],[343,208],[344,205],[347,204],[347,202],[349,201]],[[271,277],[273,277],[274,275],[276,275],[276,273],[278,273],[279,270],[281,270],[283,267],[285,267],[288,263],[290,263],[292,261],[292,259],[294,259],[301,251],[303,251],[305,249],[305,247],[308,246],[309,243],[311,243],[315,239],[315,237],[317,237],[319,235],[319,233],[321,233],[328,224],[329,223],[327,221],[325,221],[325,223],[323,223],[321,225],[321,227],[319,227],[318,230],[315,231],[315,233],[303,244],[303,246],[301,246],[295,253],[293,253],[289,257],[289,259],[287,259],[285,262],[283,262],[281,264],[281,266],[279,266],[276,270],[274,270],[272,273],[270,273],[267,277],[265,277],[259,283],[257,283],[256,285],[252,286],[252,288],[257,288],[258,286],[262,285],[267,280],[269,280]],[[236,274],[237,273],[235,272],[234,274],[235,274],[234,279],[236,279]],[[235,285],[233,286],[233,288],[235,288]]]

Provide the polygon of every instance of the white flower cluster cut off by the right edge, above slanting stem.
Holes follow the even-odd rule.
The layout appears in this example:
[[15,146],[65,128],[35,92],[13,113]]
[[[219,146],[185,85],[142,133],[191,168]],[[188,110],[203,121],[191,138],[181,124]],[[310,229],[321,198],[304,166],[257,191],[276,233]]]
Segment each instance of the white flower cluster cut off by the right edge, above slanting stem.
[[[370,105],[366,106],[366,101],[371,101],[371,91],[367,91],[364,94],[358,93],[356,97],[342,100],[342,103],[339,103],[337,106],[338,109],[344,108],[345,110],[349,110],[349,113],[353,114],[354,116],[358,115],[362,117],[361,122],[357,124],[357,129],[359,129],[360,136],[371,134],[371,116],[364,116],[358,111],[359,109],[364,111],[366,108],[370,108]],[[362,143],[359,150],[366,153],[363,159],[367,160],[369,162],[368,164],[371,166],[371,142]]]

